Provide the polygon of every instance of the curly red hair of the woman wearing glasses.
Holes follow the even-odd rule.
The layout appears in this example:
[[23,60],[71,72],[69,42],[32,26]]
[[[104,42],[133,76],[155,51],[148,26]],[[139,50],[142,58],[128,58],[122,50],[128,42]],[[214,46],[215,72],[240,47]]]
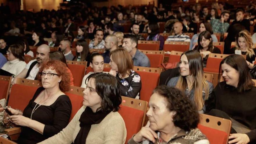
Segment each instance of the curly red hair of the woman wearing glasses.
[[[61,77],[61,82],[59,88],[62,92],[66,92],[70,90],[70,74],[67,72],[67,65],[61,61],[53,60],[43,63],[40,67],[39,72],[42,72],[44,69],[55,70],[58,73],[58,76]],[[39,77],[39,81],[42,83],[41,77]]]

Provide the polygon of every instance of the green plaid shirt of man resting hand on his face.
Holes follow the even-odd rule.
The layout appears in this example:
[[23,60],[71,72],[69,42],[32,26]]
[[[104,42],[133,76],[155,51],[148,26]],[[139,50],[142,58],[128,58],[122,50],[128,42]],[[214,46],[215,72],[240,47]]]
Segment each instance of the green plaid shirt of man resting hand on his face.
[[229,23],[222,23],[220,19],[212,19],[211,27],[214,33],[225,33],[229,27]]

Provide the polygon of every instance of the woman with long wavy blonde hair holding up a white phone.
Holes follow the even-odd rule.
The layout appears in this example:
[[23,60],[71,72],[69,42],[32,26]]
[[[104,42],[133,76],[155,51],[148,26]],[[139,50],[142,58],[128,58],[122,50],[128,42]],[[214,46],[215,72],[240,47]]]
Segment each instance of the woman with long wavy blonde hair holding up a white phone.
[[256,50],[253,47],[253,40],[249,31],[243,30],[237,34],[236,47],[231,48],[230,54],[235,54],[236,50],[240,50],[242,55],[246,55],[246,63],[252,69],[256,58]]

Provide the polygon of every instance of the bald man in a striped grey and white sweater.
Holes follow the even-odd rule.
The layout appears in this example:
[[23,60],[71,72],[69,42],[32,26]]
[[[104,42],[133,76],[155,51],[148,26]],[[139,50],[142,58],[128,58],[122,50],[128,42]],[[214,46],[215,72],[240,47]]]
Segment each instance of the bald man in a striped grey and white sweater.
[[175,35],[168,36],[167,41],[190,42],[190,37],[188,35],[184,35],[182,33],[182,29],[182,23],[175,22],[173,25],[173,31]]

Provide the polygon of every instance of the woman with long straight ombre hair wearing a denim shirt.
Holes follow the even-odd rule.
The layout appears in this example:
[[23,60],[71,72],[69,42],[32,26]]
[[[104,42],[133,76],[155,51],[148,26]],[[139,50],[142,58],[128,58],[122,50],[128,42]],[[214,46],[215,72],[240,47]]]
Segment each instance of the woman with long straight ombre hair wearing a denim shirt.
[[199,113],[206,110],[205,101],[211,97],[214,87],[206,81],[203,71],[202,57],[198,51],[185,51],[180,58],[179,77],[173,77],[168,86],[184,91],[194,104]]

